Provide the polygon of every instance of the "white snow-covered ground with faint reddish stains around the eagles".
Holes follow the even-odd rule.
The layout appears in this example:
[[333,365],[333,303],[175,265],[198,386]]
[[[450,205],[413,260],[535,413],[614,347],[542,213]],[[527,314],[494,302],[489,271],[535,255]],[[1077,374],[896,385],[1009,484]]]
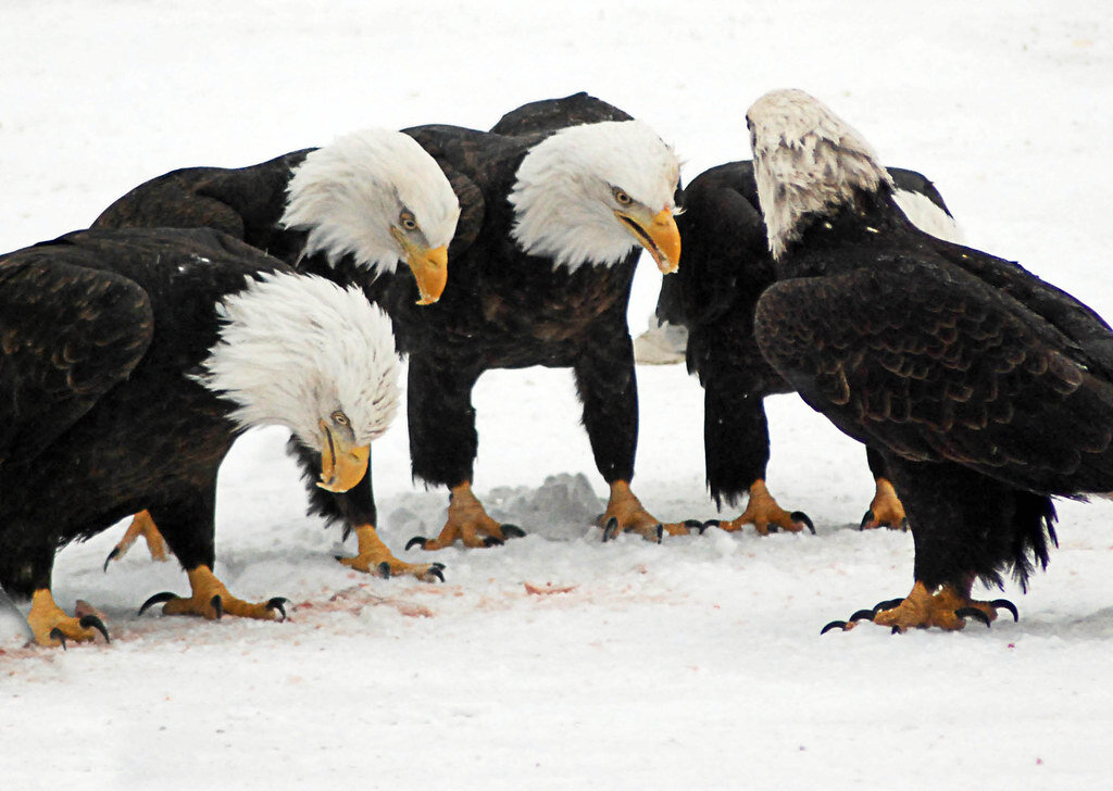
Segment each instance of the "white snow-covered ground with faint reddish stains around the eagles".
[[[746,108],[794,86],[934,178],[972,245],[1113,317],[1107,0],[6,0],[0,19],[0,249],[85,227],[176,167],[362,126],[485,128],[580,89],[652,123],[691,179],[747,158]],[[634,332],[659,277],[642,267]],[[636,492],[662,518],[713,516],[698,385],[682,366],[639,377]],[[770,486],[818,534],[663,545],[604,545],[590,526],[605,487],[567,372],[493,372],[475,405],[476,488],[529,536],[440,553],[444,584],[337,564],[353,545],[303,515],[270,429],[221,472],[217,572],[244,597],[288,596],[289,621],[137,617],[151,593],[188,590],[177,564],[136,547],[102,573],[119,528],[61,552],[58,601],[98,606],[112,643],[0,655],[0,784],[1109,785],[1110,504],[1062,504],[1048,572],[1005,592],[1020,623],[820,637],[907,592],[912,538],[856,530],[864,453],[795,396],[768,404]],[[439,530],[444,496],[411,483],[403,424],[374,455],[402,554]]]

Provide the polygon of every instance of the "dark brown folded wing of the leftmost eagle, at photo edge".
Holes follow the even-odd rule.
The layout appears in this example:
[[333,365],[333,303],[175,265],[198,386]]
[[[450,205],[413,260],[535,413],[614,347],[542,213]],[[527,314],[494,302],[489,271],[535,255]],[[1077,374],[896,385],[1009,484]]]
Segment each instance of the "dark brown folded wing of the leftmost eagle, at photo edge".
[[81,255],[32,247],[0,258],[0,462],[35,458],[150,344],[147,293],[82,267]]

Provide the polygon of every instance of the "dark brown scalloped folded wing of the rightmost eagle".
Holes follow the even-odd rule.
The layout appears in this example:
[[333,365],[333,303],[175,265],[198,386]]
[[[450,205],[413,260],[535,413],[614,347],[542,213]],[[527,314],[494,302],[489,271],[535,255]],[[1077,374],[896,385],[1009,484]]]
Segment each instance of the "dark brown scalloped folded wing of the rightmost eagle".
[[782,280],[756,330],[805,401],[869,445],[1035,492],[1113,479],[1113,386],[1056,327],[954,267]]

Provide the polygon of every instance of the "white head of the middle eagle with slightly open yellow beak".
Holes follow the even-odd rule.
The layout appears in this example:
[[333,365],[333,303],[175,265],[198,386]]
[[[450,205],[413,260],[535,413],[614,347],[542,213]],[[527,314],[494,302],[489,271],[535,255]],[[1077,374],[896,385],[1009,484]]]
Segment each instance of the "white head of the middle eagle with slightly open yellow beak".
[[680,260],[672,216],[680,162],[641,121],[569,127],[534,146],[515,174],[514,240],[553,267],[612,265],[641,245],[661,271]]

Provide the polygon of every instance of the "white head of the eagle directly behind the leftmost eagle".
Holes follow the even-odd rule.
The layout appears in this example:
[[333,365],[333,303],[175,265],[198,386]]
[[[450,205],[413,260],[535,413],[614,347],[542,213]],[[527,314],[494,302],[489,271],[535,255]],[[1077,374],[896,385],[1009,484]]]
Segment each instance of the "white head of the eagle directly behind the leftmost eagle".
[[309,152],[294,169],[282,224],[308,231],[305,253],[346,255],[375,274],[405,260],[421,304],[447,279],[460,201],[436,160],[408,135],[364,129]]

